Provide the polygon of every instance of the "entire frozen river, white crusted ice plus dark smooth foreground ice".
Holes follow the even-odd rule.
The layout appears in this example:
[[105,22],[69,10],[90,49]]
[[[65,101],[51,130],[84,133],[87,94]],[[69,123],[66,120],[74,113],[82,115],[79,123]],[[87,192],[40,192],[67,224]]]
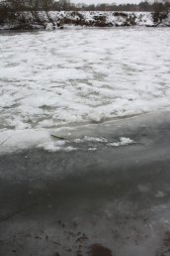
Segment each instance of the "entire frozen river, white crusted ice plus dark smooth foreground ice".
[[0,255],[169,256],[169,36],[0,35]]

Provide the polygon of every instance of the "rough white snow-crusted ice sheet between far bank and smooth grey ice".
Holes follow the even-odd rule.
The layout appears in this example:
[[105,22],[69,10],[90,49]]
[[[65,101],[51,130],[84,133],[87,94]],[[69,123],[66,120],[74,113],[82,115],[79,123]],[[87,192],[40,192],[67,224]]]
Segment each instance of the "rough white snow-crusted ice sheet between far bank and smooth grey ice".
[[1,131],[169,107],[169,36],[148,28],[2,34]]

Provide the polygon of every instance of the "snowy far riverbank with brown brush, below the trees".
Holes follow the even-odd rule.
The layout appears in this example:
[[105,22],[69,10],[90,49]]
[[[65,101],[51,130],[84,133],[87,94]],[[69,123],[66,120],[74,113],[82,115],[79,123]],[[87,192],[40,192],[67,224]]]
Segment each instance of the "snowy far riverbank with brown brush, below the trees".
[[[39,17],[39,18],[38,18]],[[52,21],[52,22],[51,22]],[[68,25],[85,27],[170,26],[168,17],[155,17],[149,12],[22,12],[15,21],[5,21],[1,30],[32,30],[64,28]]]

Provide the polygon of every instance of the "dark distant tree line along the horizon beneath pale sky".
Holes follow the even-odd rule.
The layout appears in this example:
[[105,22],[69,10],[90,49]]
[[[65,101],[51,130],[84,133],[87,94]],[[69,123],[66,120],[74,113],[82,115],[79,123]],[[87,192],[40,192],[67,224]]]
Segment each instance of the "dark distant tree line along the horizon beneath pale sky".
[[0,2],[0,8],[14,11],[140,11],[159,12],[168,11],[170,0],[155,1],[153,3],[142,1],[139,4],[74,4],[69,0],[4,0]]

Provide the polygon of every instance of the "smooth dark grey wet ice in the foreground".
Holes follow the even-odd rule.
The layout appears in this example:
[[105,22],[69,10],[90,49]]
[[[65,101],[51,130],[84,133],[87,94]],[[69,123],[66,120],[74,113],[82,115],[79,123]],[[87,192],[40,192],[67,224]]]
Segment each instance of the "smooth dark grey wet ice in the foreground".
[[[86,136],[75,151],[0,156],[0,255],[169,256],[170,119],[161,116],[131,131],[153,136],[144,145]],[[85,153],[89,143],[101,147]]]

